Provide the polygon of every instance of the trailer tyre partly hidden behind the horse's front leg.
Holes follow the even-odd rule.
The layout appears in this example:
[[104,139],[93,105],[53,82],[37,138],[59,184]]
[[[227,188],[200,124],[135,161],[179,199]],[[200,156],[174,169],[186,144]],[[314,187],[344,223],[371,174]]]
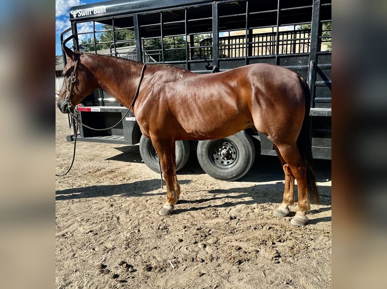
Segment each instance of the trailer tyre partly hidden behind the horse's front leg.
[[[189,158],[189,142],[188,140],[175,141],[176,149],[176,172],[182,169]],[[152,171],[160,173],[159,157],[153,147],[152,141],[149,138],[141,135],[140,137],[140,155],[144,163]]]

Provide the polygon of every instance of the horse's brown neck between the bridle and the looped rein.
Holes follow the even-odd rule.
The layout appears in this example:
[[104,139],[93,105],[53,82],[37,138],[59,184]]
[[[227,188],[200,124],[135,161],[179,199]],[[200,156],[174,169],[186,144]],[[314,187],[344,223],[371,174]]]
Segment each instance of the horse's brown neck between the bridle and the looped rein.
[[91,55],[87,67],[94,75],[99,88],[129,107],[141,77],[142,63],[113,56]]

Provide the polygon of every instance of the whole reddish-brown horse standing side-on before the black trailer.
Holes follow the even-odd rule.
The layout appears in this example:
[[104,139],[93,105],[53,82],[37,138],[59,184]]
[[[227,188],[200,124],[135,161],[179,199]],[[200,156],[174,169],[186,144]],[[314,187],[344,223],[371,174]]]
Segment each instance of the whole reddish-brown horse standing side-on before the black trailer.
[[139,90],[132,110],[142,134],[152,140],[167,187],[159,214],[170,214],[180,196],[175,140],[223,138],[255,128],[273,142],[285,173],[283,201],[274,215],[289,213],[296,179],[298,210],[291,223],[307,223],[310,201],[318,202],[319,196],[312,166],[310,93],[300,75],[271,64],[198,75],[172,65],[144,67],[114,56],[78,53],[67,47],[64,51],[65,80],[57,102],[62,112],[74,109],[95,89],[129,108]]

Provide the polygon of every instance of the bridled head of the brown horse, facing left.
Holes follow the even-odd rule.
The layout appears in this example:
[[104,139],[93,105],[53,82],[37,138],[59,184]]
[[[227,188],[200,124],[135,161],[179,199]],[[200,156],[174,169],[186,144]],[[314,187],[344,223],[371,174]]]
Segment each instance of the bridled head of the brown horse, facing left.
[[[82,57],[82,53],[73,52],[63,45],[66,54],[67,63],[63,69],[63,86],[59,92],[57,106],[63,113],[69,113],[70,110],[80,103],[87,95],[91,94],[96,88],[95,79],[91,71],[84,65],[87,57]],[[81,61],[82,58],[82,61]]]

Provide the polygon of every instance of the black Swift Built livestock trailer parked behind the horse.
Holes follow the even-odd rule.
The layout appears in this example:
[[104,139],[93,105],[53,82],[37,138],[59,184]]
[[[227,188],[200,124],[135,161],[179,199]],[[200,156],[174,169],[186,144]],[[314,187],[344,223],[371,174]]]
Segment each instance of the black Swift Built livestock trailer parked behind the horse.
[[[331,0],[113,0],[72,7],[70,23],[62,43],[78,51],[167,63],[199,74],[263,62],[293,69],[308,80],[312,95],[313,157],[331,159]],[[144,163],[159,170],[135,115],[125,116],[127,108],[113,97],[95,90],[77,109],[81,123],[98,129],[122,119],[104,131],[80,126],[74,131],[79,141],[139,143]],[[247,129],[245,136],[247,144],[238,134],[176,141],[177,169],[200,148],[198,159],[209,175],[224,180],[233,175],[234,180],[250,169],[252,162],[246,160],[255,154],[276,155],[264,134]]]

